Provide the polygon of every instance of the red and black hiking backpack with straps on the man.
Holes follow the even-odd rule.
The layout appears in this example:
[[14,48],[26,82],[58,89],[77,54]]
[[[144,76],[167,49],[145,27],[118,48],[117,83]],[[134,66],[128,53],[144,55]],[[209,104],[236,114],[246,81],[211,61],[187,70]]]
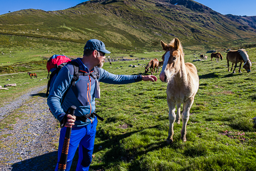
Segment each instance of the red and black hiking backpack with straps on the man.
[[[94,67],[94,73],[93,72],[79,73],[79,64],[76,61],[71,61],[70,58],[68,58],[67,56],[64,56],[64,55],[52,55],[52,57],[49,58],[49,60],[47,61],[47,65],[46,65],[47,70],[48,70],[48,77],[47,77],[48,84],[47,84],[46,96],[49,96],[50,88],[52,87],[52,85],[58,75],[58,72],[66,64],[72,64],[74,67],[74,74],[73,74],[73,79],[71,81],[70,87],[71,87],[71,85],[75,86],[75,82],[79,79],[79,75],[91,75],[94,79],[96,79],[96,78],[99,79],[99,68],[98,67]],[[49,72],[51,72],[51,74],[49,74]],[[64,100],[68,89],[64,93],[62,101]]]

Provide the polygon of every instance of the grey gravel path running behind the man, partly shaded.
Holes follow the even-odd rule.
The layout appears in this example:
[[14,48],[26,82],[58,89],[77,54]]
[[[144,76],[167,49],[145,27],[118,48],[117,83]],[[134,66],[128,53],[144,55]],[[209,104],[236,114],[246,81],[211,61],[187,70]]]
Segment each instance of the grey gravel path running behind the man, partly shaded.
[[0,171],[54,170],[60,128],[39,93],[45,88],[0,108]]

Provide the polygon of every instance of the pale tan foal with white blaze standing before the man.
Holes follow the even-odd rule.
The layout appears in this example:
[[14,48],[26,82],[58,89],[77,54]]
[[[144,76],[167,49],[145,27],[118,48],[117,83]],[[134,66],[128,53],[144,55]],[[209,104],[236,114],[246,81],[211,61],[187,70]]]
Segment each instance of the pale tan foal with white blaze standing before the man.
[[[171,43],[161,41],[165,54],[162,56],[163,68],[160,80],[167,84],[167,104],[169,107],[169,132],[167,143],[172,143],[173,125],[180,124],[180,106],[183,103],[181,139],[186,141],[186,125],[189,120],[189,110],[194,102],[195,94],[199,87],[199,78],[194,64],[184,63],[183,48],[179,39],[175,38]],[[177,105],[177,116],[175,115]]]

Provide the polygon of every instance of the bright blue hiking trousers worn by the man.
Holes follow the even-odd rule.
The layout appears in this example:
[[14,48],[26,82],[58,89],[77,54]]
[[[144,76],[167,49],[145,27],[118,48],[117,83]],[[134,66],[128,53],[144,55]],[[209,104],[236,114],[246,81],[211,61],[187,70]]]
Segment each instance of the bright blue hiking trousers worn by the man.
[[[79,159],[76,171],[88,171],[92,161],[94,139],[96,134],[97,118],[95,117],[93,123],[82,127],[73,127],[70,136],[70,146],[67,155],[67,168],[69,171],[76,149],[79,146]],[[67,127],[61,128],[59,146],[58,146],[58,163],[61,158],[62,146],[65,138]],[[58,163],[55,171],[58,171]]]

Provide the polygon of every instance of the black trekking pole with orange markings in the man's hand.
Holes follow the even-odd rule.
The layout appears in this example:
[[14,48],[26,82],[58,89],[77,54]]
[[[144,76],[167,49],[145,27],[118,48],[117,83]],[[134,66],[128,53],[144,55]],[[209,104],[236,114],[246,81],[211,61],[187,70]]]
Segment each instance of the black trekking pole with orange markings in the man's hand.
[[[76,110],[76,106],[70,106],[68,108],[67,113],[74,116]],[[65,139],[63,142],[63,147],[61,151],[61,159],[58,164],[58,171],[65,171],[67,166],[67,154],[68,154],[68,148],[70,144],[70,135],[71,135],[72,127],[67,127],[66,133],[65,133]]]

